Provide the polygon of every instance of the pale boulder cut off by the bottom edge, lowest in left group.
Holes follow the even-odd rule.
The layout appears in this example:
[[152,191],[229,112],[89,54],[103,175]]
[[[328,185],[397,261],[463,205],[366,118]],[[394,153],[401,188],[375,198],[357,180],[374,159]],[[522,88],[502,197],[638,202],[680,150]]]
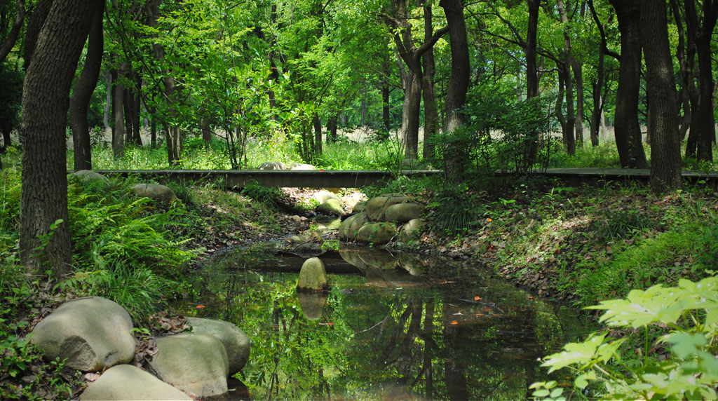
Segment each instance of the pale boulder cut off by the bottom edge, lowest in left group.
[[107,369],[80,395],[93,400],[188,400],[184,392],[168,385],[139,367],[117,365]]

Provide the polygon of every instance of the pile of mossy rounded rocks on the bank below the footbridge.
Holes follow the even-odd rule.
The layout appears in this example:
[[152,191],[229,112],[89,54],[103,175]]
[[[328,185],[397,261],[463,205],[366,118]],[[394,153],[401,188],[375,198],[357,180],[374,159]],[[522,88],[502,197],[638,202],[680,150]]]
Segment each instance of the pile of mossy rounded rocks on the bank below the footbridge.
[[373,197],[356,204],[353,212],[339,227],[342,241],[381,245],[391,242],[398,231],[398,239],[407,242],[426,225],[419,219],[424,214],[424,205],[402,194]]

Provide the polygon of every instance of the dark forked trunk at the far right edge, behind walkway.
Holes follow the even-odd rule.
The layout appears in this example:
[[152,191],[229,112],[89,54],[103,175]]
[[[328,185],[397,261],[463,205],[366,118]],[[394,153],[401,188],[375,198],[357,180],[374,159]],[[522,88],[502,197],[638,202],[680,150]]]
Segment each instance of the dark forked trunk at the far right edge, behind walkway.
[[713,68],[711,39],[718,20],[718,0],[704,0],[699,23],[694,1],[686,0],[686,24],[694,33],[698,55],[698,108],[691,120],[691,134],[697,138],[696,159],[713,160],[715,118],[713,112]]

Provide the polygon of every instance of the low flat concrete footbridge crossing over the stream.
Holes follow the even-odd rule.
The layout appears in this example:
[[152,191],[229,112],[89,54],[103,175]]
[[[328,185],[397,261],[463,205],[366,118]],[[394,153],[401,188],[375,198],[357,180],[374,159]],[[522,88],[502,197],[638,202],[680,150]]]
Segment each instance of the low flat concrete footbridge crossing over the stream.
[[[393,179],[394,173],[380,170],[95,170],[100,174],[138,176],[139,179],[157,181],[220,181],[225,188],[243,188],[253,181],[264,187],[297,188],[361,188],[382,184]],[[441,170],[404,170],[400,173],[410,179],[418,176],[444,174]],[[560,179],[564,184],[596,184],[600,182],[645,181],[650,179],[648,169],[547,169],[528,173]],[[503,173],[498,175],[513,175]],[[718,184],[718,171],[683,171],[687,181],[704,180]]]

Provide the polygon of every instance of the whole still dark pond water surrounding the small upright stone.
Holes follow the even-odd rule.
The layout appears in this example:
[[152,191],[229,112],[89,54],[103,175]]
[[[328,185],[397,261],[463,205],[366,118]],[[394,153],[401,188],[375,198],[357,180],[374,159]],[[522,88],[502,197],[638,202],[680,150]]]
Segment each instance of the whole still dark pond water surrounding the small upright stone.
[[330,291],[297,294],[304,258],[236,250],[195,273],[180,309],[248,334],[253,400],[521,400],[546,379],[538,357],[587,330],[484,268],[396,256],[329,251]]

